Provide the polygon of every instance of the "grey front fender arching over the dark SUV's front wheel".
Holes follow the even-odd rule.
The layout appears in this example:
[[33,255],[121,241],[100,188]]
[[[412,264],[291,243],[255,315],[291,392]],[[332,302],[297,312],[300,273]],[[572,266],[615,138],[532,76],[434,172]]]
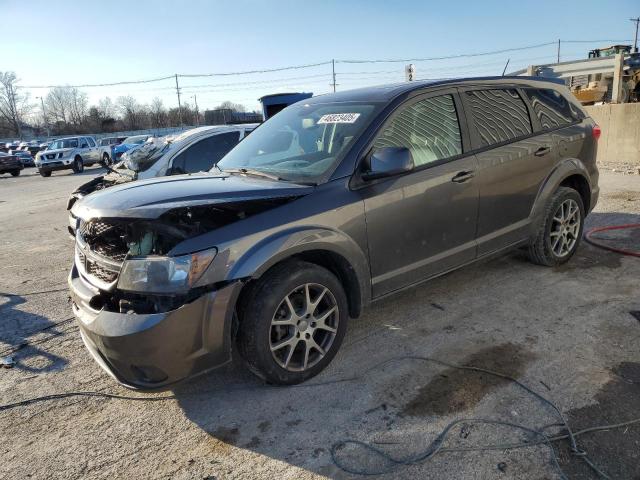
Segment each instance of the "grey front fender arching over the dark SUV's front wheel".
[[[247,249],[237,243],[222,247],[198,285],[258,278],[275,264],[310,251],[341,256],[355,272],[361,304],[370,303],[371,282],[365,253],[348,235],[325,226],[299,226],[276,232]],[[220,278],[220,272],[225,272],[224,278]]]

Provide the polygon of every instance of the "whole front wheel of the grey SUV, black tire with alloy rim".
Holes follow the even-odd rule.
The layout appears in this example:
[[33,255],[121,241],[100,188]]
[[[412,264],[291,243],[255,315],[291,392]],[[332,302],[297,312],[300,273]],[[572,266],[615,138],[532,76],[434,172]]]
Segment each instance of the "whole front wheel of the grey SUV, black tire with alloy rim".
[[320,373],[347,329],[347,297],[325,268],[287,261],[264,274],[239,305],[238,347],[269,383],[293,385]]

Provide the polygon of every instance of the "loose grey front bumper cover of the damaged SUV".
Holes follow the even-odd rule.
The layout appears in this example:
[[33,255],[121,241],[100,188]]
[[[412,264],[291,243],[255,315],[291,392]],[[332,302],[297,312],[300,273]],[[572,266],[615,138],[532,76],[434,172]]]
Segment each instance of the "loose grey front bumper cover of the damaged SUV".
[[166,389],[231,359],[231,324],[240,282],[155,314],[96,308],[99,291],[75,265],[68,283],[82,340],[96,362],[125,387]]

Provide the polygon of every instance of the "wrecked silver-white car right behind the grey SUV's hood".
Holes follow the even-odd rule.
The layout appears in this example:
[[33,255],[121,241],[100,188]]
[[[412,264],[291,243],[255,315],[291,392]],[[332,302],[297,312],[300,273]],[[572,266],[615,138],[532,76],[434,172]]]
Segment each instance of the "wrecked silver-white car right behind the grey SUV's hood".
[[[67,210],[79,198],[96,190],[138,179],[208,171],[257,124],[199,127],[176,137],[157,138],[122,157],[123,161],[106,175],[78,187],[70,196]],[[69,232],[75,236],[76,218],[69,213]]]

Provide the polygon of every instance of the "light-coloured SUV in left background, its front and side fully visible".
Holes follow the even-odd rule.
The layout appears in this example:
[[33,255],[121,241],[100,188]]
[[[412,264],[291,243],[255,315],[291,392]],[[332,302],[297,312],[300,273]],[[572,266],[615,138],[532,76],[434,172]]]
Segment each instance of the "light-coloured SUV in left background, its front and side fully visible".
[[36,157],[38,172],[50,177],[55,170],[73,170],[81,173],[85,166],[98,163],[98,148],[93,137],[68,137],[53,141],[49,148]]

